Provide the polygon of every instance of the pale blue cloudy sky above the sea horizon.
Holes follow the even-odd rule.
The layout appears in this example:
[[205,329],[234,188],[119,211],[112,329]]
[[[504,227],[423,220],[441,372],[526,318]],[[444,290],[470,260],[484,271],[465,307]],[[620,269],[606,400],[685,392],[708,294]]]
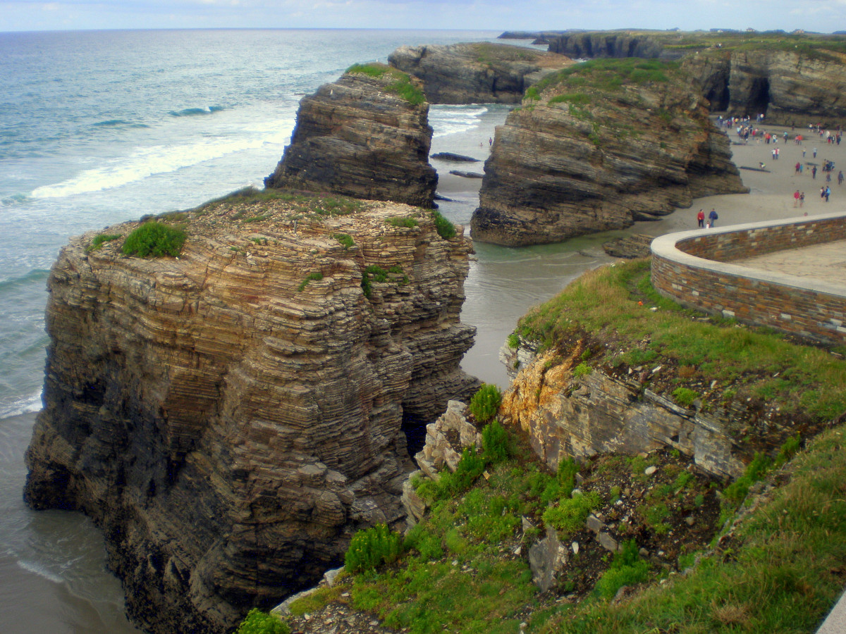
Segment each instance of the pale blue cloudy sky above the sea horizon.
[[0,0],[0,31],[197,28],[846,30],[846,0]]

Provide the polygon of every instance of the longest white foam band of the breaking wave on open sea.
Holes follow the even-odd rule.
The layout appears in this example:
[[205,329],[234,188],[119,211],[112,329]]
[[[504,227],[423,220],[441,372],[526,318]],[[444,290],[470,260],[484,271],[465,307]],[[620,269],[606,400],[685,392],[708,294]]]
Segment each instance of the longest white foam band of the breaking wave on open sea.
[[244,150],[255,150],[266,144],[282,145],[290,138],[293,121],[274,122],[261,131],[240,139],[204,140],[190,145],[153,145],[139,148],[130,156],[122,156],[106,161],[102,167],[85,170],[74,178],[69,178],[55,185],[43,185],[33,190],[32,198],[65,198],[76,194],[118,188],[135,183],[156,174],[176,172],[184,167],[192,167],[203,161],[211,161],[221,156]]

